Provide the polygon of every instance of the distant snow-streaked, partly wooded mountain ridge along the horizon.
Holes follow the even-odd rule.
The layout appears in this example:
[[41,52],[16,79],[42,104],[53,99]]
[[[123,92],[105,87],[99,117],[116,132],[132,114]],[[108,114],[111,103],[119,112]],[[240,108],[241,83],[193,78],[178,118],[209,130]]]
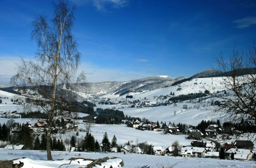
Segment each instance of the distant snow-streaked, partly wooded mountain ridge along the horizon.
[[[239,69],[237,70],[237,75],[245,74],[256,74],[255,68]],[[98,97],[105,94],[114,94],[114,95],[124,95],[130,92],[142,92],[156,90],[168,86],[179,85],[182,82],[194,79],[194,78],[205,78],[205,77],[219,77],[219,76],[230,76],[232,74],[229,72],[221,72],[215,69],[209,69],[202,72],[199,72],[189,78],[178,77],[172,78],[166,75],[145,77],[140,79],[134,79],[130,81],[104,81],[104,82],[88,82],[86,87],[82,83],[78,84],[78,90],[84,94],[92,94],[93,97]],[[60,86],[59,86],[60,87]],[[0,90],[15,93],[15,87],[0,85]]]

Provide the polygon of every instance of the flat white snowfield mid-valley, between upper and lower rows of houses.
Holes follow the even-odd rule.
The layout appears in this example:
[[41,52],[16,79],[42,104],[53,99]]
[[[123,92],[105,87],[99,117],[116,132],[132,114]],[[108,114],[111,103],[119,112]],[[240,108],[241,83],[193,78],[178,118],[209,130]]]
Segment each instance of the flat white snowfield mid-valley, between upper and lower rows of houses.
[[[84,124],[79,124],[78,129],[84,129]],[[115,135],[117,138],[117,144],[123,145],[128,141],[130,144],[147,142],[148,145],[162,146],[164,149],[171,146],[174,141],[179,141],[181,145],[190,145],[191,141],[187,139],[187,135],[172,135],[164,134],[163,132],[157,131],[142,131],[134,129],[131,127],[126,127],[126,125],[106,125],[106,124],[94,124],[91,128],[91,134],[99,143],[101,143],[104,132],[108,133],[109,139],[111,141],[112,137]],[[67,132],[66,134],[56,134],[54,136],[66,139],[71,138],[72,135],[76,135],[76,132]],[[77,138],[84,139],[86,132],[79,132]]]

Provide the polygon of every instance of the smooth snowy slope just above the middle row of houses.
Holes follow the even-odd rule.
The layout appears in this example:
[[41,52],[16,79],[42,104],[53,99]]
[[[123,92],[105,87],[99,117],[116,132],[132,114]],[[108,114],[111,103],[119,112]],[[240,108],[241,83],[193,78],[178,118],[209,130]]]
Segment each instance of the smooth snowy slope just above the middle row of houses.
[[[177,106],[174,104],[167,106],[157,106],[157,107],[144,107],[144,108],[129,108],[127,105],[102,105],[97,104],[97,108],[118,108],[118,110],[123,111],[124,115],[146,118],[150,121],[157,122],[163,121],[166,123],[184,123],[190,125],[198,125],[202,120],[217,120],[222,119],[220,114],[216,115],[213,113],[207,103],[177,103]],[[184,109],[183,105],[186,104],[188,107]],[[202,107],[202,105],[208,105],[207,107]],[[195,106],[200,106],[199,108]],[[122,107],[122,108],[121,108]],[[206,110],[207,109],[207,110]],[[175,113],[176,111],[176,113]]]

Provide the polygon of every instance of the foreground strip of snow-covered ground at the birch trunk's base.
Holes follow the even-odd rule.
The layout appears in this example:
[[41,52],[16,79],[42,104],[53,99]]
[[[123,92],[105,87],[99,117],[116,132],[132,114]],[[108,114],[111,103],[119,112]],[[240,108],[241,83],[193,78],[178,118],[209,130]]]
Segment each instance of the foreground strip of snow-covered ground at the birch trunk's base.
[[[86,152],[52,152],[53,159],[69,159],[71,157],[83,157],[98,159],[103,157],[119,157],[123,159],[123,167],[169,167],[178,162],[175,167],[255,167],[255,161],[235,161],[209,158],[183,158],[172,156],[156,156],[144,154],[122,154],[122,153],[86,153]],[[0,150],[0,160],[11,160],[27,157],[30,159],[46,160],[45,151],[25,151],[25,150]],[[39,167],[39,166],[38,166]],[[56,166],[58,167],[58,166]]]

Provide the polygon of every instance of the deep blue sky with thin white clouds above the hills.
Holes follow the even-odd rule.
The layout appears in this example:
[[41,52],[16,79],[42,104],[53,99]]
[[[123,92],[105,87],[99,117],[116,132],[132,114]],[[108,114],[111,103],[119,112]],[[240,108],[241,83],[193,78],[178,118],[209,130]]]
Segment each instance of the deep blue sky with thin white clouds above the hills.
[[[31,22],[52,17],[52,1],[0,0],[0,83],[20,57],[32,59]],[[255,1],[72,0],[73,35],[88,82],[154,75],[189,77],[216,67],[256,39]]]

